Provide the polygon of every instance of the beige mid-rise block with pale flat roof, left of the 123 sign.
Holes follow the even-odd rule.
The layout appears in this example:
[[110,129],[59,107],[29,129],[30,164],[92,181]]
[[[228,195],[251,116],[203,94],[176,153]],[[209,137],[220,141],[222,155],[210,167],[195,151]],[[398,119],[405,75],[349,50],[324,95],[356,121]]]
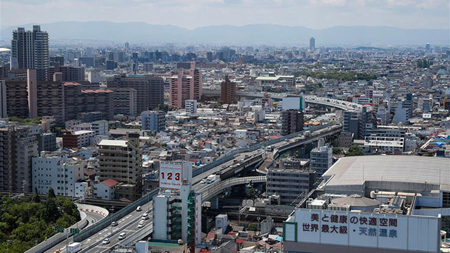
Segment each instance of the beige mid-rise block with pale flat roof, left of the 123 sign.
[[[139,134],[127,133],[127,140],[101,140],[98,143],[98,177],[121,183],[116,198],[136,200],[142,196],[142,150]],[[128,196],[127,196],[128,195]]]

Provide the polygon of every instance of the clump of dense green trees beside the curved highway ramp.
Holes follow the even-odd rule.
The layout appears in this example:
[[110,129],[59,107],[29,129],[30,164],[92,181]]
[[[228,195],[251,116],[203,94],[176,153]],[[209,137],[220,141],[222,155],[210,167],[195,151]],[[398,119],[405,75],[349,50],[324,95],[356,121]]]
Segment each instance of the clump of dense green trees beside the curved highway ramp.
[[20,253],[55,234],[54,228],[68,228],[79,221],[76,205],[56,197],[50,188],[47,198],[0,198],[0,253]]

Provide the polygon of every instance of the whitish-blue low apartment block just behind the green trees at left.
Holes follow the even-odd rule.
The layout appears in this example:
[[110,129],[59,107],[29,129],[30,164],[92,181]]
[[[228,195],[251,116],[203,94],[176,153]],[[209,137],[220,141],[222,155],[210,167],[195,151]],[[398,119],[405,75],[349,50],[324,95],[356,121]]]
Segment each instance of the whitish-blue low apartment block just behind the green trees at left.
[[66,197],[80,196],[84,192],[80,184],[84,179],[86,163],[82,159],[69,158],[67,155],[47,157],[41,155],[32,158],[33,192],[47,194],[53,188],[55,195]]

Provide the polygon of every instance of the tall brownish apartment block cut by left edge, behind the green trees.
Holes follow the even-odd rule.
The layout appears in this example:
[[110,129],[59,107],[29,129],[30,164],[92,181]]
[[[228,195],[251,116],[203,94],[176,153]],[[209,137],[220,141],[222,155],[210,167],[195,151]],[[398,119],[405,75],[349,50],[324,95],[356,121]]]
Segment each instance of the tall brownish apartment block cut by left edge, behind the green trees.
[[39,126],[6,126],[0,129],[1,190],[31,192],[32,157],[39,155]]

